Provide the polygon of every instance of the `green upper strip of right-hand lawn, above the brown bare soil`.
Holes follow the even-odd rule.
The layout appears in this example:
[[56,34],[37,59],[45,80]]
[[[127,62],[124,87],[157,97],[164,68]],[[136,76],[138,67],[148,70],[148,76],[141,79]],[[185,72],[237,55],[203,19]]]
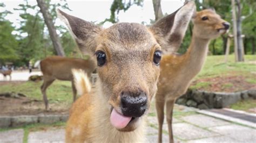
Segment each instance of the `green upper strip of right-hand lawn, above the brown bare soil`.
[[245,62],[234,62],[234,55],[228,56],[228,62],[225,63],[224,55],[211,55],[207,56],[205,65],[198,78],[223,76],[232,73],[248,74],[252,71],[256,71],[256,67],[253,63],[248,61],[256,61],[255,55],[245,55]]

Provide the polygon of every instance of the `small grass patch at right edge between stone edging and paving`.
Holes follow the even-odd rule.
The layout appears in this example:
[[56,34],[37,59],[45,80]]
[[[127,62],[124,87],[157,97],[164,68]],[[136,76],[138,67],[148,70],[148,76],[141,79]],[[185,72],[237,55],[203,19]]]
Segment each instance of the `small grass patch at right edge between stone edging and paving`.
[[237,103],[230,105],[230,108],[234,110],[248,111],[249,109],[256,108],[256,100],[247,99],[244,101],[239,101]]

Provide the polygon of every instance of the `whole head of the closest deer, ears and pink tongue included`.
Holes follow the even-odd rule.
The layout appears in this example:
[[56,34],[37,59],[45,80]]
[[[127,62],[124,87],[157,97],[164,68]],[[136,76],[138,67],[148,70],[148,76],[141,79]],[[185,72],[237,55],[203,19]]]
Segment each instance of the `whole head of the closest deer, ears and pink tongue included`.
[[[135,130],[157,91],[161,46],[180,44],[194,10],[190,2],[151,27],[118,23],[101,28],[59,11],[82,52],[97,59],[100,96],[107,101],[111,124]],[[177,17],[178,15],[178,17]],[[173,33],[176,40],[172,40]]]

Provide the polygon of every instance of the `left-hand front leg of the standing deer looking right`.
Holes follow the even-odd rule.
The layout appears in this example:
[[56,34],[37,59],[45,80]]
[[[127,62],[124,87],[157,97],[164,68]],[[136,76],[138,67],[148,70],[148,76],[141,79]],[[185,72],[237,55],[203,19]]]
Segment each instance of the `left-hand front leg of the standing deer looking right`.
[[156,99],[156,109],[158,118],[158,142],[162,142],[162,128],[164,123],[164,100]]

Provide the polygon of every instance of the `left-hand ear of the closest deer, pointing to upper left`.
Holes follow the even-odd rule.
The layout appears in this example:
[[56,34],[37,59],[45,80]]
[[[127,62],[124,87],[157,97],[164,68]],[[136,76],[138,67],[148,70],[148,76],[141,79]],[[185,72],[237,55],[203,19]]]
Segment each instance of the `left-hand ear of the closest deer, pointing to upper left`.
[[59,9],[57,14],[58,18],[69,27],[69,31],[75,38],[80,51],[84,54],[94,54],[97,47],[96,38],[102,28],[83,19],[68,15]]

